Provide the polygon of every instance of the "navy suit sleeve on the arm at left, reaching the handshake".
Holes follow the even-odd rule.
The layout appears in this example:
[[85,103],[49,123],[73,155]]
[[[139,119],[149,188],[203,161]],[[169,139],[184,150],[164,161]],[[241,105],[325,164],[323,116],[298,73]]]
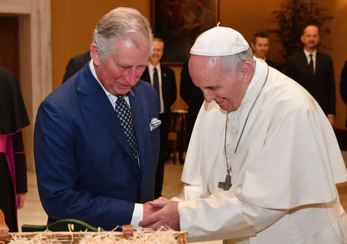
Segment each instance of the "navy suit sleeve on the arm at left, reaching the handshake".
[[34,128],[34,157],[39,196],[47,215],[55,220],[81,220],[105,230],[130,224],[135,203],[93,196],[76,185],[77,146],[68,115],[43,101]]

